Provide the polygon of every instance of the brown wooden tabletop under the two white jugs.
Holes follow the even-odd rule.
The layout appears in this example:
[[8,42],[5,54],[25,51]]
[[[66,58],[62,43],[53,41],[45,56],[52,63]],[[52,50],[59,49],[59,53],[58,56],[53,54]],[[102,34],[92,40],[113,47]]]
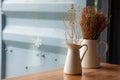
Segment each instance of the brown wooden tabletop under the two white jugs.
[[66,75],[58,69],[4,80],[120,80],[120,65],[101,63],[99,69],[83,69],[82,75]]

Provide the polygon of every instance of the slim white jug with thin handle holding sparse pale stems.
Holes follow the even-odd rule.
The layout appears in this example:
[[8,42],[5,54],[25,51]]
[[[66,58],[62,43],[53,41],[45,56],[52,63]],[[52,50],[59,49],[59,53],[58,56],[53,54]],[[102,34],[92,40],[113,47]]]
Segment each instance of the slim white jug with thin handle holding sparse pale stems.
[[80,54],[79,54],[79,49],[82,48],[83,46],[87,45],[76,45],[73,43],[67,43],[68,47],[68,52],[66,56],[66,61],[65,61],[65,66],[64,66],[64,73],[65,74],[81,74],[82,69],[81,69],[81,61],[86,53],[83,53],[82,58],[80,59]]

